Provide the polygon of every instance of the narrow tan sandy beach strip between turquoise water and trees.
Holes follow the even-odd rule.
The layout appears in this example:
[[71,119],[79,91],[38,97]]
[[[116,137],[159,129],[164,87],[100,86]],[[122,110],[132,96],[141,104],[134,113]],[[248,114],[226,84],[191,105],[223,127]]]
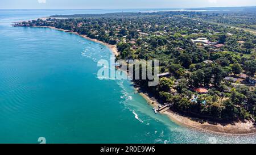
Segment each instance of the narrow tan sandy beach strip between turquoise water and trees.
[[[113,53],[114,56],[118,56],[118,50],[116,45],[110,45],[107,43],[104,43],[103,41],[97,40],[97,39],[91,39],[90,37],[86,35],[80,35],[77,32],[72,32],[69,30],[64,30],[61,28],[51,27],[51,26],[34,26],[39,28],[51,28],[54,30],[59,30],[63,32],[69,32],[73,33],[75,35],[79,35],[85,39],[88,39],[90,41],[94,41],[96,43],[100,43],[103,45],[106,45],[110,49],[110,51]],[[135,91],[138,91],[138,87],[134,87]],[[145,100],[147,100],[147,103],[153,107],[158,107],[158,101],[156,99],[152,99],[148,96],[148,94],[143,92],[138,92]],[[152,111],[153,112],[153,111]],[[175,122],[176,124],[182,125],[184,127],[188,128],[195,128],[199,129],[201,131],[207,131],[207,132],[214,132],[214,133],[221,133],[226,135],[252,135],[256,134],[256,127],[253,125],[252,122],[249,122],[248,120],[245,120],[245,122],[234,122],[222,125],[220,123],[214,123],[209,122],[203,119],[197,119],[197,118],[190,118],[187,116],[182,116],[180,114],[177,114],[177,112],[174,112],[172,110],[166,110],[162,112],[161,114],[165,114],[168,116],[168,118]]]

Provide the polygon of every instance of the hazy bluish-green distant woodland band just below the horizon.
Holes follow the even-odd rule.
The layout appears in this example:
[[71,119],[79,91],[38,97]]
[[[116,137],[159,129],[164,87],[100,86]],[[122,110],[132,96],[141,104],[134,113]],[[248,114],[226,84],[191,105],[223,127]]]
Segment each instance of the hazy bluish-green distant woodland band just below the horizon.
[[[241,28],[250,28],[256,31],[256,7],[213,7],[200,9],[185,9],[192,12],[176,11],[171,12],[172,15],[186,15],[189,18],[201,19],[205,22],[214,22],[236,26]],[[199,12],[196,12],[196,11]],[[52,18],[118,18],[122,17],[137,17],[147,15],[168,14],[168,12],[140,12],[131,13],[109,13],[109,14],[80,14],[80,15],[52,15]],[[170,13],[169,13],[170,14]]]

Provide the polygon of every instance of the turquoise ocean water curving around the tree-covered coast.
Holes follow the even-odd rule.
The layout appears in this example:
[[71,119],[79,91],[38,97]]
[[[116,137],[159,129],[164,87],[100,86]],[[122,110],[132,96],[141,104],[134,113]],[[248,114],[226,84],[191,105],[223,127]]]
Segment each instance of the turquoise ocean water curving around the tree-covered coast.
[[[197,131],[154,114],[130,81],[100,80],[99,43],[11,22],[122,10],[0,10],[0,143],[256,143]],[[145,10],[130,10],[145,11]]]

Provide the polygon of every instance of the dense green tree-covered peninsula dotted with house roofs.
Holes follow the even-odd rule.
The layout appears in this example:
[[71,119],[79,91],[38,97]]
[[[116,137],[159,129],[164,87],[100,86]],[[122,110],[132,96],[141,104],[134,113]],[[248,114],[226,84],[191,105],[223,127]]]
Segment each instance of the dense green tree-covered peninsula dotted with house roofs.
[[230,122],[256,119],[256,37],[208,20],[255,28],[255,19],[255,12],[139,12],[54,15],[15,26],[77,32],[117,45],[118,59],[158,59],[168,76],[158,86],[137,85],[175,111]]

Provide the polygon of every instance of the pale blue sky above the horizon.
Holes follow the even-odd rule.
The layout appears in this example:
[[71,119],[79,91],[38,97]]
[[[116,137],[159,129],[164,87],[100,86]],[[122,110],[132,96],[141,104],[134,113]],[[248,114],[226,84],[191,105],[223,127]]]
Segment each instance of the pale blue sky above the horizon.
[[256,0],[1,0],[0,9],[142,9],[256,6]]

